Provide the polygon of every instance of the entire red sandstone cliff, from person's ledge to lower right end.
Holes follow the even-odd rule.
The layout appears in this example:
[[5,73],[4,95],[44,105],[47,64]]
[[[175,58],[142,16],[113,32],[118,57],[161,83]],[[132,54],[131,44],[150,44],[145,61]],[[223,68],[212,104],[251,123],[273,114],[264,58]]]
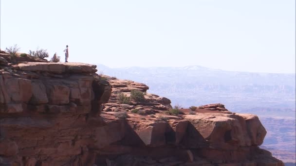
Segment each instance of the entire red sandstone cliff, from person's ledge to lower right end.
[[[95,71],[81,63],[0,64],[0,165],[283,166],[259,149],[266,131],[257,116],[222,104],[167,115],[170,100],[147,85]],[[145,99],[122,104],[118,96],[132,90]]]

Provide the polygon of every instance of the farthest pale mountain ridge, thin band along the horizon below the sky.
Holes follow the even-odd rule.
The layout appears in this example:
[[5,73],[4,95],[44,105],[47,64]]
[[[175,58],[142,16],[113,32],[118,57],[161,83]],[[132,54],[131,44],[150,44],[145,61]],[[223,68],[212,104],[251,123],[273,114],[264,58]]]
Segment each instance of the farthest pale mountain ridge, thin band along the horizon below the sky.
[[[145,77],[151,75],[158,76],[170,76],[174,74],[182,74],[179,77],[183,77],[184,74],[186,77],[192,77],[198,80],[209,79],[214,80],[215,78],[223,78],[220,83],[229,83],[225,82],[226,78],[231,79],[232,81],[241,80],[241,83],[266,83],[266,84],[285,84],[290,86],[295,86],[295,76],[296,74],[278,74],[278,73],[252,73],[252,72],[239,72],[239,71],[225,71],[219,69],[211,69],[203,66],[184,66],[184,67],[119,67],[111,68],[104,65],[97,65],[99,71],[106,72],[106,74],[111,73],[111,75],[116,75],[117,77],[135,77],[134,74],[147,74]],[[210,74],[210,75],[209,75]],[[198,78],[203,76],[203,78]],[[213,77],[215,76],[215,77]],[[138,78],[141,79],[141,78]],[[143,78],[142,78],[143,79]],[[173,78],[172,78],[173,79]],[[257,80],[259,79],[259,80]],[[208,80],[210,81],[210,80]]]

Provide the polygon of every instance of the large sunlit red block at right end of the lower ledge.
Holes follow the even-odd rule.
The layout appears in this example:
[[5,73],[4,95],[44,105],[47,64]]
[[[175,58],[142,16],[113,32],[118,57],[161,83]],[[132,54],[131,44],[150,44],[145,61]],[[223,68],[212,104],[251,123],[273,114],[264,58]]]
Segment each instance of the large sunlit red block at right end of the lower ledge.
[[204,113],[186,115],[185,119],[189,120],[210,146],[215,148],[259,146],[266,134],[258,117],[250,114]]

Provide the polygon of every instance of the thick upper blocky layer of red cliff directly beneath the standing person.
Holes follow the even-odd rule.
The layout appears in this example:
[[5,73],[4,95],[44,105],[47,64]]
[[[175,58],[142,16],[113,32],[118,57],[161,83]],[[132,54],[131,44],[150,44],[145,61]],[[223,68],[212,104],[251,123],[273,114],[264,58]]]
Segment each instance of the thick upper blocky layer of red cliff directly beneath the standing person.
[[[88,112],[94,99],[98,104],[107,102],[101,96],[109,94],[104,97],[109,99],[111,93],[111,86],[100,81],[95,71],[95,66],[81,63],[29,62],[6,67],[0,71],[0,112],[58,113],[78,107]],[[100,96],[94,98],[96,94]]]

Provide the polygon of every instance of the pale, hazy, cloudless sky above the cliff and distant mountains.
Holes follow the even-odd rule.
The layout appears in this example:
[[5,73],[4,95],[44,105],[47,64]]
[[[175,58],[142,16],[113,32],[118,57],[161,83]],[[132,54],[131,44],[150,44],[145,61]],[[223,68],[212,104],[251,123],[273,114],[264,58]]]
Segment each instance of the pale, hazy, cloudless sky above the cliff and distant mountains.
[[295,73],[295,0],[1,0],[0,48],[69,61]]

